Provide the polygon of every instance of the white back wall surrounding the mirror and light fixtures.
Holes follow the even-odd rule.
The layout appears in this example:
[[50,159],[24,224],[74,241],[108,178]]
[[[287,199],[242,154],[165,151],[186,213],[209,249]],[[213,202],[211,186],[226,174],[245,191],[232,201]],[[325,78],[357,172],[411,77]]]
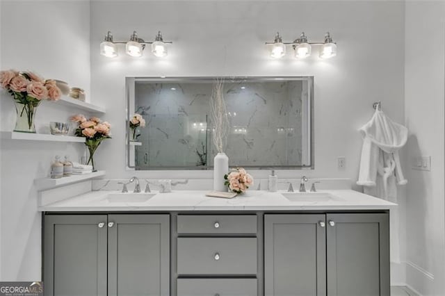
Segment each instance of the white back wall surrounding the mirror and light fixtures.
[[[277,171],[279,178],[356,180],[362,147],[357,129],[373,115],[372,103],[382,101],[387,115],[404,121],[404,1],[93,1],[91,16],[92,96],[106,104],[106,119],[113,124],[113,140],[97,152],[97,165],[108,177],[212,177],[205,171],[125,170],[125,76],[315,76],[315,170]],[[159,60],[146,49],[142,58],[130,58],[122,48],[118,58],[99,55],[107,31],[123,41],[133,30],[147,41],[161,30],[164,40],[174,42],[169,56]],[[286,41],[302,31],[321,41],[330,31],[339,54],[324,61],[295,60],[289,52],[272,60],[264,42],[273,41],[276,31]],[[346,156],[345,170],[337,169],[338,156]],[[257,178],[268,174],[253,172]],[[403,226],[404,190],[399,202]],[[400,237],[404,242],[403,229]],[[391,270],[392,281],[404,283],[404,266]]]

